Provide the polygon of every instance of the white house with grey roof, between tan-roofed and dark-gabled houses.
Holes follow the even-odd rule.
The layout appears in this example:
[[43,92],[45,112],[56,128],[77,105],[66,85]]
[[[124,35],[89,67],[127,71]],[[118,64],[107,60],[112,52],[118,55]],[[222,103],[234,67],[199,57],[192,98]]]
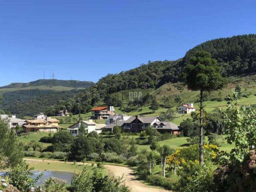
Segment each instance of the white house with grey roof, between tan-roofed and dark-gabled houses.
[[75,124],[68,127],[68,130],[73,136],[77,136],[79,134],[79,128],[81,125],[84,125],[84,129],[86,133],[90,133],[92,131],[96,131],[98,134],[102,132],[102,128],[106,126],[106,124],[97,124],[93,122],[92,119],[88,121],[78,121]]

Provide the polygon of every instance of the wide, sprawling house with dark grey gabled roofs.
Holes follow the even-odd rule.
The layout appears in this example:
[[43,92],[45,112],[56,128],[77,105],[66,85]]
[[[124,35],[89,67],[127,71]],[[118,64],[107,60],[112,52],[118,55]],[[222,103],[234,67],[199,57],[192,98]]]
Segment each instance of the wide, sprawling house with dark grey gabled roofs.
[[113,132],[115,126],[122,127],[124,132],[141,132],[146,130],[148,126],[158,130],[159,132],[169,132],[171,134],[180,134],[180,128],[178,125],[172,122],[162,121],[159,117],[144,117],[144,116],[132,116],[126,121],[118,121],[106,125],[104,130]]

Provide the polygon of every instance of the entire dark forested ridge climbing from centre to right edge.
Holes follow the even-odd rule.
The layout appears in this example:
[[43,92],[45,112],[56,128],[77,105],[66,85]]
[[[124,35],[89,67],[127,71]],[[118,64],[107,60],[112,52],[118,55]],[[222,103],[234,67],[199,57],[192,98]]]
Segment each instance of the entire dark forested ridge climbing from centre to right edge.
[[210,52],[218,60],[223,76],[256,72],[256,34],[249,34],[204,42],[186,52],[180,60],[148,62],[126,72],[109,74],[96,86],[99,91],[108,94],[134,88],[157,88],[167,82],[177,82],[190,56],[200,50]]

